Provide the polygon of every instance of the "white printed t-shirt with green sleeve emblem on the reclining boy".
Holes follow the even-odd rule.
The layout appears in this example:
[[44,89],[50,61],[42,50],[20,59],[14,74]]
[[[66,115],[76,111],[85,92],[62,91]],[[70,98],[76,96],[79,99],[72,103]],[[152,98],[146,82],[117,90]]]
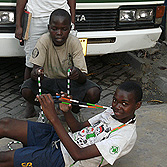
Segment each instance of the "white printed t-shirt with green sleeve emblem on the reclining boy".
[[[90,127],[86,127],[75,133],[69,133],[70,137],[79,147],[95,144],[102,157],[104,157],[102,165],[106,165],[107,163],[113,165],[116,159],[130,152],[137,138],[136,123],[128,124],[110,133],[112,129],[122,125],[121,122],[112,118],[112,112],[112,109],[107,109],[88,120],[91,124]],[[74,161],[62,143],[61,150],[65,166],[71,165]],[[96,167],[100,164],[102,157],[99,156],[76,162],[74,167]]]

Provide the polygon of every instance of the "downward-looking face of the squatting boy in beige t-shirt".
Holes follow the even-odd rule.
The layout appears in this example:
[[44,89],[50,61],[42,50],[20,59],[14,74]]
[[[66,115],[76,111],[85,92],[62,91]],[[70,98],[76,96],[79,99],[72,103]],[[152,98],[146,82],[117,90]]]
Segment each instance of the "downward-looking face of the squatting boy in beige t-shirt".
[[71,26],[67,18],[53,16],[48,29],[54,45],[61,46],[67,40]]

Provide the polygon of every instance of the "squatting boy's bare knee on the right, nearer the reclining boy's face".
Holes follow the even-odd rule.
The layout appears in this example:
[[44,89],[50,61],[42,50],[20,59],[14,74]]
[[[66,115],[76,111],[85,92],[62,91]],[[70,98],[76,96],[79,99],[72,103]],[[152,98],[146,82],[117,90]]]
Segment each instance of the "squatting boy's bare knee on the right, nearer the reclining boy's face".
[[98,87],[90,88],[86,93],[86,101],[97,103],[100,100],[100,89]]

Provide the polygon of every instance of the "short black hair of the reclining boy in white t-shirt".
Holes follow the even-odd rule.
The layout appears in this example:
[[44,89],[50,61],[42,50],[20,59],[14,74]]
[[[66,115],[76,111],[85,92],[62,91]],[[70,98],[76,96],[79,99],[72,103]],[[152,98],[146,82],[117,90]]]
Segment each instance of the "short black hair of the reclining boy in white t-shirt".
[[136,103],[142,100],[143,91],[139,83],[136,81],[125,81],[120,84],[117,89],[124,90],[126,92],[134,92]]

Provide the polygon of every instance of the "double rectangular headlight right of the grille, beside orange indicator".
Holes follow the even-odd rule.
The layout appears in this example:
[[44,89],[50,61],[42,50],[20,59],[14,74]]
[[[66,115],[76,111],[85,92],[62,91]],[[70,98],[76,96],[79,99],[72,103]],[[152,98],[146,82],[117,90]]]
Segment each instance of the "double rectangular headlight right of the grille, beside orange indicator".
[[120,22],[147,21],[153,19],[153,9],[120,10]]

